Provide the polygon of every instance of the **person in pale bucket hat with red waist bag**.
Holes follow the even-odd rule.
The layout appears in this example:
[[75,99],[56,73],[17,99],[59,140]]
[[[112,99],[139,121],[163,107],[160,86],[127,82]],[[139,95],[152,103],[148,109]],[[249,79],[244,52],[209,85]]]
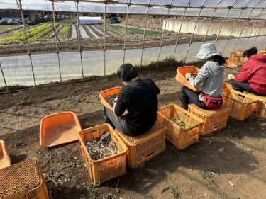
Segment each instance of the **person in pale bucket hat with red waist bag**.
[[187,110],[188,104],[191,102],[199,108],[207,110],[221,108],[223,104],[221,93],[223,91],[224,58],[212,43],[201,45],[199,53],[194,57],[201,59],[205,64],[195,79],[188,72],[185,77],[189,80],[189,84],[195,88],[201,86],[201,91],[192,91],[192,89],[183,86],[180,93],[182,108]]

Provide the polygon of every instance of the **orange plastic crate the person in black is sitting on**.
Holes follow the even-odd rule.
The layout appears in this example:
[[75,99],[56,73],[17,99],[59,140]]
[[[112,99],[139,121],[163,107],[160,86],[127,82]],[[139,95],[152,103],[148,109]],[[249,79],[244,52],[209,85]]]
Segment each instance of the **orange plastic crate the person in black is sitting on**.
[[128,147],[128,166],[131,168],[138,167],[165,151],[165,130],[166,127],[158,122],[148,132],[135,137],[124,135],[116,130]]

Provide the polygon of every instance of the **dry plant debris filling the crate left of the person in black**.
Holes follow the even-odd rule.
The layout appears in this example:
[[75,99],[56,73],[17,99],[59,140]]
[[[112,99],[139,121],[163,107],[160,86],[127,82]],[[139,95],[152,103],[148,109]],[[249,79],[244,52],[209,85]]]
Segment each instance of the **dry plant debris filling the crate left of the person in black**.
[[104,132],[99,139],[86,140],[86,147],[92,160],[103,159],[117,154],[116,143],[111,140],[110,132]]

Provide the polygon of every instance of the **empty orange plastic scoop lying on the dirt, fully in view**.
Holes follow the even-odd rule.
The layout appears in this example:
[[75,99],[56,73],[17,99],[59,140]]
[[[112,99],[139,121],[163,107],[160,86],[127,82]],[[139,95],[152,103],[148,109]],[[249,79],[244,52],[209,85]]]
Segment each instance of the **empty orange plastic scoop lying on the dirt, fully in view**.
[[45,116],[40,122],[40,147],[52,147],[79,139],[77,115],[67,111]]

